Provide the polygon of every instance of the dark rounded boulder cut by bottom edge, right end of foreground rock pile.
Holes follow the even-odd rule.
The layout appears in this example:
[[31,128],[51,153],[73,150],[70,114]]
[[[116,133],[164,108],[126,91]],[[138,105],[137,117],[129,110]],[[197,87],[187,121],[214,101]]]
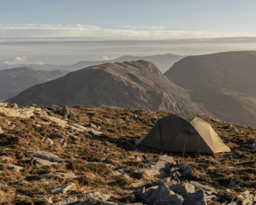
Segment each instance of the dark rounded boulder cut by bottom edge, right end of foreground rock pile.
[[189,194],[189,196],[186,197],[182,202],[182,205],[191,205],[191,204],[207,205],[206,196],[202,189],[197,190],[197,192],[195,193]]

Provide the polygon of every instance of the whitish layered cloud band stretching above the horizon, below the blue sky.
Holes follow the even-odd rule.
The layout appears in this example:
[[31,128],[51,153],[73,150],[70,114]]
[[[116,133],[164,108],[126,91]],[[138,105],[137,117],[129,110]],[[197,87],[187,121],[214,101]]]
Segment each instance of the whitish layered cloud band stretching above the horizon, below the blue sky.
[[0,59],[10,64],[15,60],[21,62],[22,56],[33,56],[34,62],[39,63],[67,64],[124,54],[190,55],[254,50],[256,34],[166,30],[163,26],[0,24],[0,45]]

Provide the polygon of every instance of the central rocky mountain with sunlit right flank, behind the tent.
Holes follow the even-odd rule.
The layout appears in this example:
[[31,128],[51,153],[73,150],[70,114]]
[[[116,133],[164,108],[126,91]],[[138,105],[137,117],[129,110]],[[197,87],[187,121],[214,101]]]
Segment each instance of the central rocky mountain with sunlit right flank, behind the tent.
[[28,88],[6,101],[208,113],[201,104],[191,103],[187,90],[145,60],[87,67]]

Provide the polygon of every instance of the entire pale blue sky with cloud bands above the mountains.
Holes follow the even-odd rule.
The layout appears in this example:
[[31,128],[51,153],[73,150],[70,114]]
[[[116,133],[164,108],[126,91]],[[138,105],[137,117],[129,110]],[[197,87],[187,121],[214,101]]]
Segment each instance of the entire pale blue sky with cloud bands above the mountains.
[[0,64],[255,50],[256,1],[0,1]]

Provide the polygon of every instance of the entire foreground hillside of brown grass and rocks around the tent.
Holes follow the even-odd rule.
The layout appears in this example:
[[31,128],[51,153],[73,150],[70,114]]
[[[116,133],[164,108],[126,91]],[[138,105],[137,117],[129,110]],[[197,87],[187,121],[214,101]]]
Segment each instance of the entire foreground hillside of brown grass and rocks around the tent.
[[[165,187],[165,192],[174,191],[170,192],[176,197],[176,204],[181,204],[183,197],[182,205],[193,204],[189,203],[191,198],[196,200],[193,194],[201,194],[198,200],[202,199],[200,204],[205,205],[225,201],[229,205],[254,204],[255,146],[245,147],[255,143],[256,129],[197,114],[195,116],[211,124],[231,148],[231,153],[218,153],[217,156],[185,153],[182,158],[182,153],[161,152],[134,143],[151,130],[157,119],[175,113],[69,106],[75,117],[65,118],[59,115],[56,105],[25,107],[24,110],[34,110],[34,116],[18,118],[0,113],[0,127],[4,132],[0,134],[2,204],[48,204],[46,201],[54,201],[55,205],[67,197],[70,200],[67,204],[80,201],[88,204],[91,200],[98,204],[101,197],[107,200],[102,203],[104,205],[134,203],[129,202],[134,197],[137,202],[146,200],[148,202],[143,204],[151,204],[157,197],[164,197],[162,192],[158,193],[161,187]],[[230,132],[232,126],[238,131]],[[101,134],[93,134],[92,127],[100,129]],[[86,132],[80,134],[81,128],[91,130],[92,136]],[[151,160],[159,156],[168,162],[172,160],[172,168],[164,172],[158,171],[157,166],[152,168]],[[164,162],[163,168],[169,166],[162,158],[155,159],[155,165]],[[177,160],[180,164],[175,165]],[[184,167],[189,174],[182,171]],[[179,171],[174,174],[169,169]],[[158,182],[160,175],[156,177],[147,170],[155,170],[161,177],[168,178]],[[142,193],[137,194],[141,189]],[[100,197],[95,198],[98,194]],[[145,198],[148,195],[149,199]]]

